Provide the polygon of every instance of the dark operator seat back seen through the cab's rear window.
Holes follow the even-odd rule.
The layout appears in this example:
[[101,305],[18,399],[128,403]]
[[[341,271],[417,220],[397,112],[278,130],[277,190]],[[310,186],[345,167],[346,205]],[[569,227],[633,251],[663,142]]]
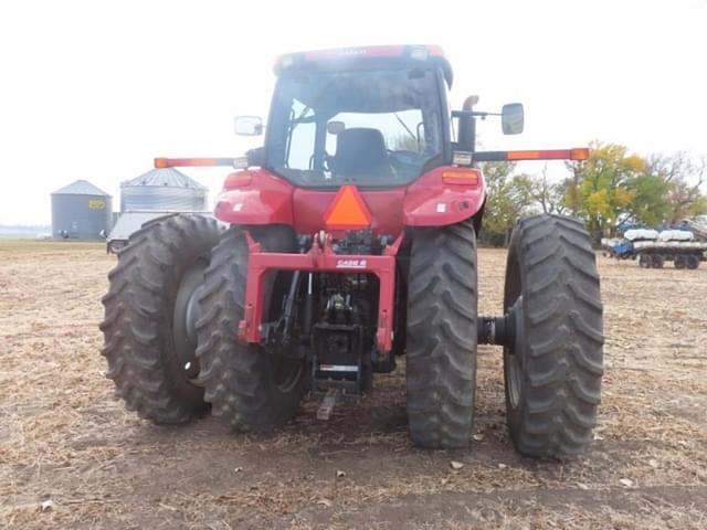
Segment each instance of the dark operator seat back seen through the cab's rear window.
[[341,177],[392,177],[386,140],[378,129],[344,129],[336,137],[331,171]]

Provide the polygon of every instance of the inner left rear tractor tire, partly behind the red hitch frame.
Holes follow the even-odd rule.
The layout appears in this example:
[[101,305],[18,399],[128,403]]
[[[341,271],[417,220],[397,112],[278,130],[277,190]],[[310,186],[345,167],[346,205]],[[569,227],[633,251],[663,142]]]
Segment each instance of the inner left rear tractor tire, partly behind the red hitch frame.
[[[294,233],[287,226],[251,227],[249,232],[264,252],[296,252]],[[205,389],[212,415],[232,430],[272,431],[297,411],[304,393],[305,364],[294,357],[271,353],[260,344],[239,341],[247,259],[243,231],[229,229],[211,254],[199,299],[199,384]],[[265,316],[268,307],[273,308],[270,316],[277,316],[284,292],[279,286],[288,285],[292,273],[268,275]]]

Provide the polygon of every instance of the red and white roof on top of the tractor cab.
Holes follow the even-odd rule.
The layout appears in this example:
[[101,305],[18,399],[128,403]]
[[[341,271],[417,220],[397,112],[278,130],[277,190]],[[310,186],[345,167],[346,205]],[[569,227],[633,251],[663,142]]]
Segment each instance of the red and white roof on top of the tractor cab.
[[452,65],[437,45],[360,46],[288,53],[275,60],[274,70],[279,75],[288,70],[384,70],[395,65],[421,64],[441,67],[447,85],[452,86]]

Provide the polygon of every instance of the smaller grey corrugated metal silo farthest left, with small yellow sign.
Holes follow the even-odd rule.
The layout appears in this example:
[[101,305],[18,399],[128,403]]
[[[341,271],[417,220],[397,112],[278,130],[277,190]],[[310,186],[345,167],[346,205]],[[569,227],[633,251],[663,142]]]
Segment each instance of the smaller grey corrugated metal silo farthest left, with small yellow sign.
[[52,237],[102,240],[110,229],[113,199],[91,182],[77,180],[52,193]]

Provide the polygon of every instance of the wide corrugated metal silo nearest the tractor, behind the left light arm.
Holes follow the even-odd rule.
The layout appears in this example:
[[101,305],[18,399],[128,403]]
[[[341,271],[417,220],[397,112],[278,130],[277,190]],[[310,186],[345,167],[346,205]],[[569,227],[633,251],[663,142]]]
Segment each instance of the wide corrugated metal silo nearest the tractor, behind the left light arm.
[[208,189],[173,168],[154,169],[120,184],[120,212],[204,212]]

